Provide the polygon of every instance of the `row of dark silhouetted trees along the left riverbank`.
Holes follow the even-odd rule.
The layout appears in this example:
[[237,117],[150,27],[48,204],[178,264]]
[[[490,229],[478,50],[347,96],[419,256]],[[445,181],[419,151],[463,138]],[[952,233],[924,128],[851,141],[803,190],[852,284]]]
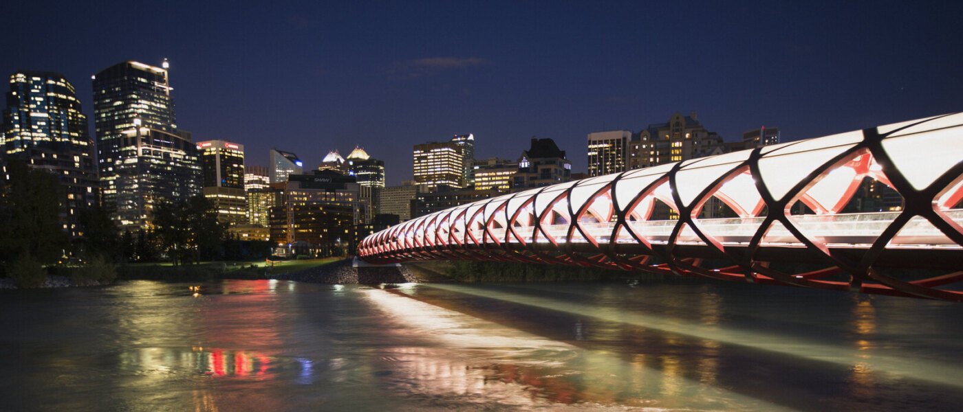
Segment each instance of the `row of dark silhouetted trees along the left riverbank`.
[[0,180],[3,268],[23,260],[40,265],[64,262],[65,258],[190,264],[261,258],[271,253],[268,241],[242,242],[231,236],[218,221],[213,203],[200,195],[155,204],[152,230],[120,232],[110,210],[100,206],[82,209],[78,217],[82,235],[71,238],[60,220],[65,188],[57,177],[14,159],[7,162],[6,169],[9,178]]

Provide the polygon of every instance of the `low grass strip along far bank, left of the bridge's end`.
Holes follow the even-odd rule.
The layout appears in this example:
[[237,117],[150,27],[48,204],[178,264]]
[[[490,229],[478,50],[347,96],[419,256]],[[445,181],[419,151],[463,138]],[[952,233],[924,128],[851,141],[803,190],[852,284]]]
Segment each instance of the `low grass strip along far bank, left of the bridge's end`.
[[246,262],[207,262],[195,265],[135,263],[117,267],[118,279],[212,280],[271,279],[273,276],[310,269],[344,257],[302,260],[258,260]]

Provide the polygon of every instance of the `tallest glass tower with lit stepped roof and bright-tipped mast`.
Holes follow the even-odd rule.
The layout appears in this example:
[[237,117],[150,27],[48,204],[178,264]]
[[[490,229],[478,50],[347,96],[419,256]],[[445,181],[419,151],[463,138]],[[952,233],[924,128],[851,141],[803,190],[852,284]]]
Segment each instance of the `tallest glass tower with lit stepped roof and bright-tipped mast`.
[[121,230],[149,228],[158,202],[201,193],[197,147],[177,129],[168,67],[122,61],[93,76],[103,203]]

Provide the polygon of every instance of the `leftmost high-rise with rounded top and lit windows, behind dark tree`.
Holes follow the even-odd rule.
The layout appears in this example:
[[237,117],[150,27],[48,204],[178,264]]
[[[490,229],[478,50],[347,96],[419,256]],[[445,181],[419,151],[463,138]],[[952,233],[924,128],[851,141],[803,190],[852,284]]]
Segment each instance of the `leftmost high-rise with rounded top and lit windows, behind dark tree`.
[[87,116],[63,75],[21,70],[10,76],[0,148],[0,157],[20,158],[57,175],[65,187],[63,228],[80,235],[79,211],[97,205],[100,190]]

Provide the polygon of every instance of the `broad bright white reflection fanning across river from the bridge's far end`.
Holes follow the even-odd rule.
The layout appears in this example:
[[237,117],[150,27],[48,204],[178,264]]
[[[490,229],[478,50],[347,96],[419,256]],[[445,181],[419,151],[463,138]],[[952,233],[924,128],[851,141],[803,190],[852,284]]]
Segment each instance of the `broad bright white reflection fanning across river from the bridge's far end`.
[[[392,390],[430,399],[502,405],[623,405],[658,408],[778,410],[779,406],[686,376],[680,354],[624,359],[612,351],[586,351],[525,331],[380,290],[365,297],[384,312],[393,341],[423,338],[425,346],[386,348],[381,369]],[[592,335],[621,340],[603,327]],[[578,336],[578,333],[576,333]],[[711,365],[708,376],[714,376]]]

